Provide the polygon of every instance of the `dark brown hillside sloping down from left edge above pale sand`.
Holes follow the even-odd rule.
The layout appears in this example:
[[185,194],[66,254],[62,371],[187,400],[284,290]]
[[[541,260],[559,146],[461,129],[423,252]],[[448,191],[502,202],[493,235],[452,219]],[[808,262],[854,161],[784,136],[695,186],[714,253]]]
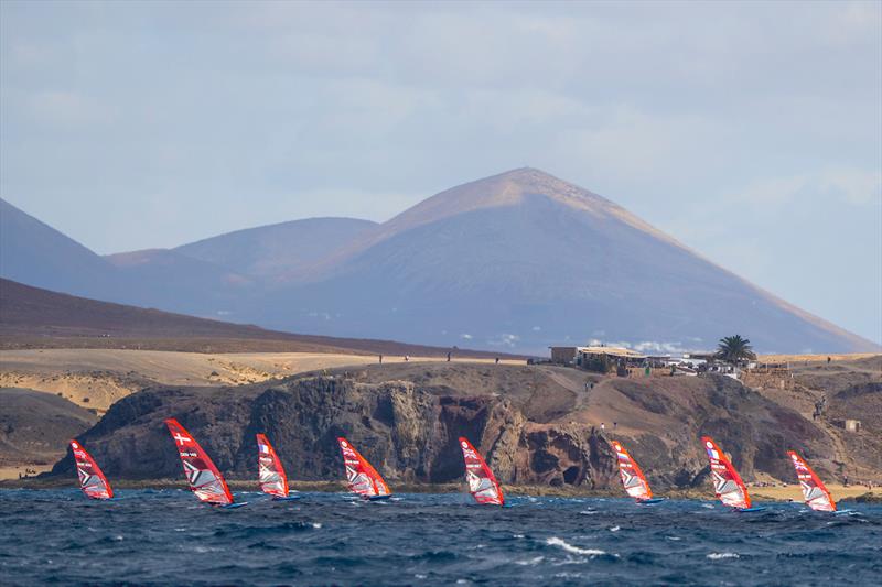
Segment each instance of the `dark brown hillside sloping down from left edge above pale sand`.
[[[0,348],[77,347],[168,350],[385,354],[442,357],[449,349],[392,340],[344,339],[98,302],[0,279]],[[461,357],[488,352],[458,350]]]

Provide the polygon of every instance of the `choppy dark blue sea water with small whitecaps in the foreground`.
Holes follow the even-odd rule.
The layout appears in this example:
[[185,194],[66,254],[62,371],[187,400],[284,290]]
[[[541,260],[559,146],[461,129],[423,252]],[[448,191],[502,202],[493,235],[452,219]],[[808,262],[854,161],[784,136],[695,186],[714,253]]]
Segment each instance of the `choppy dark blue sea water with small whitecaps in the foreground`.
[[882,507],[338,493],[236,510],[186,491],[0,491],[3,585],[880,585]]

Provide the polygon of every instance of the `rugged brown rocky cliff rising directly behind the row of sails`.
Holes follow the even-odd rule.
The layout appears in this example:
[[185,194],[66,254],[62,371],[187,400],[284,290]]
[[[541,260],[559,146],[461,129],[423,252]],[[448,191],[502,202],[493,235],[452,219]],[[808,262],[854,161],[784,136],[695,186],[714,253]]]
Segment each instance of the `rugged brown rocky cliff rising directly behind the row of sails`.
[[[460,480],[459,436],[504,483],[614,487],[613,436],[657,489],[706,482],[702,434],[746,480],[793,481],[788,448],[825,474],[848,465],[825,426],[729,378],[600,379],[550,366],[401,363],[237,388],[154,388],[114,404],[79,438],[111,476],[175,478],[180,463],[162,422],[170,416],[234,479],[255,478],[258,432],[302,480],[341,478],[341,435],[392,485]],[[72,466],[68,457],[54,472]]]

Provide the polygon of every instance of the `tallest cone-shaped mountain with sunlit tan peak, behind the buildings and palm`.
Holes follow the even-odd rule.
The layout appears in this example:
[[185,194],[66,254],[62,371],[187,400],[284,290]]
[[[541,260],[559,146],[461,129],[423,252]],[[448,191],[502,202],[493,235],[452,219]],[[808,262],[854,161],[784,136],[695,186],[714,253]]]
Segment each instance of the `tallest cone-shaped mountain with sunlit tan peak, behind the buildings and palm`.
[[277,293],[254,318],[534,352],[591,338],[709,348],[732,333],[761,350],[874,348],[537,170],[433,196],[332,261],[322,279]]

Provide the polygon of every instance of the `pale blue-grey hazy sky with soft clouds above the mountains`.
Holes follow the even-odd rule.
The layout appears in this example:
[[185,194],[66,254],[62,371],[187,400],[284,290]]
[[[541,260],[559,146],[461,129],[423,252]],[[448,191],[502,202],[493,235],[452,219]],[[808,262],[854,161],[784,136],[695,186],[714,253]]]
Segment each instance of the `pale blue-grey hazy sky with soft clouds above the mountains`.
[[0,194],[100,253],[530,165],[882,340],[879,2],[0,3]]

